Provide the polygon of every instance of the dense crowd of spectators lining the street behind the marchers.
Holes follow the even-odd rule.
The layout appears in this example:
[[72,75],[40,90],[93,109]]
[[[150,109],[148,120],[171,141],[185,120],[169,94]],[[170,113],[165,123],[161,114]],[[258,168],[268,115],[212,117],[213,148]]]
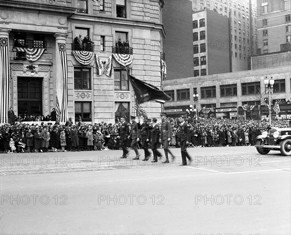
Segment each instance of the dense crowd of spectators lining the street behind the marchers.
[[[168,119],[172,125],[171,146],[179,147],[179,121]],[[256,137],[271,128],[267,121],[233,119],[199,118],[194,122],[189,121],[189,125],[192,147],[254,145]],[[0,151],[21,153],[119,149],[120,126],[121,123],[85,124],[81,119],[74,124],[72,118],[65,125],[52,121],[40,125],[26,124],[25,121],[5,124],[0,126]],[[272,126],[288,127],[289,123],[287,120],[274,120]],[[130,147],[130,140],[127,146]]]

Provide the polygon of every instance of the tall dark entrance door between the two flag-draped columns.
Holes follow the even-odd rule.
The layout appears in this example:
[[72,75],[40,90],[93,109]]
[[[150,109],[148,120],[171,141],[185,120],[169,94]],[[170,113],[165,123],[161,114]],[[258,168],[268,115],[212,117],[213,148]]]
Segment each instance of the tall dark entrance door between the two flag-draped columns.
[[42,78],[18,77],[18,115],[42,115]]

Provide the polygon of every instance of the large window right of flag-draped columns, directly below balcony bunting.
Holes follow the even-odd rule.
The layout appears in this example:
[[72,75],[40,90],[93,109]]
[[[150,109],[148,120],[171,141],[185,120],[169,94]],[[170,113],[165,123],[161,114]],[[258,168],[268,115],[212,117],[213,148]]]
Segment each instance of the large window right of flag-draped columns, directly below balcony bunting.
[[74,88],[76,90],[91,89],[91,69],[74,68]]

